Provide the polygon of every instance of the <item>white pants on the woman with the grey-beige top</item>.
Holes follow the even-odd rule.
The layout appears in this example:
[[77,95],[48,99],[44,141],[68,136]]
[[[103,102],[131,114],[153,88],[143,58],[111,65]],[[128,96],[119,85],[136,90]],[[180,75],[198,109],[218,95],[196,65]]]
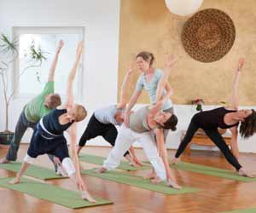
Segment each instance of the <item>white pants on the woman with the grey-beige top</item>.
[[135,141],[138,141],[143,147],[149,162],[154,167],[156,175],[159,176],[162,181],[166,180],[165,165],[157,152],[152,133],[150,131],[137,133],[125,127],[125,124],[121,126],[114,147],[108,154],[108,158],[104,161],[103,167],[107,170],[117,168],[124,153]]

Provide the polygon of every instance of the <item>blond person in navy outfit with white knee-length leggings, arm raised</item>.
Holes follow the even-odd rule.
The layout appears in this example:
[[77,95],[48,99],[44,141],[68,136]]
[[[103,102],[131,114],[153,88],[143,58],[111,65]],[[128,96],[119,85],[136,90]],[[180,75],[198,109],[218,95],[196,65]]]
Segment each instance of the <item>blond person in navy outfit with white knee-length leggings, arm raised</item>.
[[[73,101],[73,80],[75,78],[79,60],[82,55],[83,43],[80,42],[77,48],[76,60],[67,81],[67,102],[52,110],[40,119],[30,142],[26,157],[17,176],[11,184],[20,182],[21,176],[25,173],[33,160],[45,153],[52,154],[59,158],[67,175],[77,185],[82,193],[82,199],[96,202],[90,197],[79,170],[79,158],[75,151],[76,146],[76,123],[83,120],[87,112],[83,106],[75,104]],[[70,147],[73,153],[73,161],[69,158],[66,138],[63,132],[67,130],[70,135]]]

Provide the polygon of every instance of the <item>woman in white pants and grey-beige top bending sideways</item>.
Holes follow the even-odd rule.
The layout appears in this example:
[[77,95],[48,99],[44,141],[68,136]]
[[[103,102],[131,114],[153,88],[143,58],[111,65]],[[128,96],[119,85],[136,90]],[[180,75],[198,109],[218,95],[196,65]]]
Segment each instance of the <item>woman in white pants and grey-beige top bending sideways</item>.
[[[150,163],[153,165],[156,175],[153,182],[167,181],[168,186],[180,188],[171,176],[171,170],[168,164],[166,149],[160,146],[160,155],[154,142],[155,130],[160,134],[157,135],[157,142],[163,145],[164,135],[163,129],[176,130],[177,117],[171,112],[162,112],[163,104],[169,99],[171,92],[164,93],[167,79],[169,77],[171,67],[176,63],[171,55],[166,69],[160,78],[156,89],[156,102],[153,106],[142,107],[136,112],[131,112],[129,117],[129,127],[123,124],[119,130],[115,146],[108,154],[108,158],[104,161],[98,172],[113,170],[119,166],[120,159],[129,147],[138,141]],[[161,158],[160,158],[161,156]]]

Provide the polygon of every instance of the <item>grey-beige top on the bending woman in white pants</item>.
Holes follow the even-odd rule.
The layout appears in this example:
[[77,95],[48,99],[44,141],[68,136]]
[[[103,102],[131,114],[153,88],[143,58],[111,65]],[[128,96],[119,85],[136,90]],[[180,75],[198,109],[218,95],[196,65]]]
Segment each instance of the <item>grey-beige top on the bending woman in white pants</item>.
[[149,106],[142,107],[136,112],[131,113],[130,115],[130,129],[138,132],[148,132],[150,128],[148,127],[147,115],[149,112]]

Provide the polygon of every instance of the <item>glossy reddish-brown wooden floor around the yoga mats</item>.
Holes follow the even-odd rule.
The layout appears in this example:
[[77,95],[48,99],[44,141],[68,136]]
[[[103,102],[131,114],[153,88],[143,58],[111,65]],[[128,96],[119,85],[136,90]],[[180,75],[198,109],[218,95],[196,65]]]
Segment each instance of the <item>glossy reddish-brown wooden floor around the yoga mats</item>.
[[[26,154],[26,145],[20,147],[19,159]],[[107,147],[86,147],[84,153],[95,153],[107,156]],[[0,157],[3,158],[7,149],[0,148]],[[146,159],[143,150],[137,149],[140,158]],[[172,158],[174,151],[169,151]],[[196,164],[212,165],[220,168],[231,169],[218,152],[192,151],[183,156],[183,160]],[[51,168],[52,164],[46,156],[38,158],[37,163]],[[256,170],[256,155],[242,154],[241,164],[248,170]],[[82,163],[82,167],[92,168],[95,165]],[[143,176],[148,171],[136,171]],[[114,204],[90,207],[80,210],[70,210],[58,204],[52,204],[42,199],[32,198],[29,195],[0,187],[0,212],[1,213],[48,213],[48,212],[86,212],[86,213],[212,213],[227,210],[256,208],[256,182],[230,181],[215,176],[204,176],[187,171],[172,170],[173,175],[181,185],[202,189],[199,193],[181,195],[165,195],[154,193],[125,184],[106,181],[96,177],[83,176],[90,193],[105,199],[110,199]],[[0,169],[0,177],[15,176],[15,173]],[[73,184],[68,180],[49,181],[60,187],[73,189]]]

